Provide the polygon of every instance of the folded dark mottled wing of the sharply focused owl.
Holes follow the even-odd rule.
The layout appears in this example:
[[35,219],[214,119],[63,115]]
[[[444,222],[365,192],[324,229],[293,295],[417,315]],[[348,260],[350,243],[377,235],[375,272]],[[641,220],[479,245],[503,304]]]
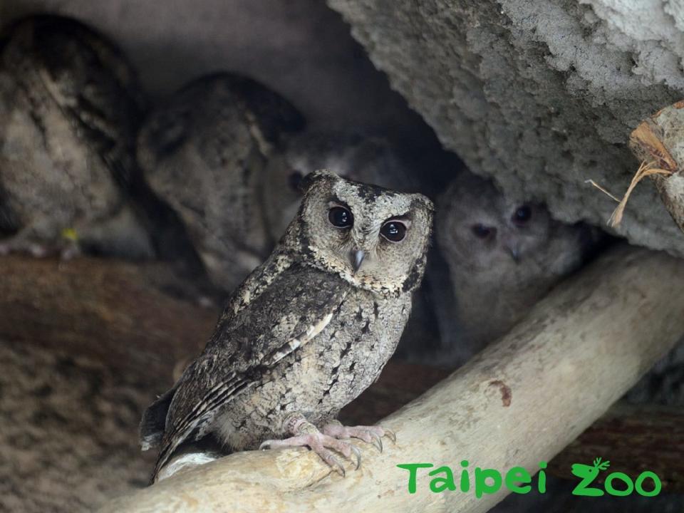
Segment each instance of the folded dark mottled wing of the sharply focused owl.
[[222,405],[257,385],[264,372],[323,331],[349,287],[337,276],[294,265],[225,317],[202,356],[175,385],[152,479],[180,443],[206,433]]

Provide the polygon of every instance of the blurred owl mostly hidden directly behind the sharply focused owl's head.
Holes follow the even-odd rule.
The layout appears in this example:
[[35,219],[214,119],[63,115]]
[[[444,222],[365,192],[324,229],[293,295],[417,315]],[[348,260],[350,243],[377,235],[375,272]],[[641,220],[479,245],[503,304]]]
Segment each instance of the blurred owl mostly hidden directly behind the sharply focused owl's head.
[[264,211],[271,239],[277,240],[299,208],[299,182],[328,170],[349,180],[408,192],[420,190],[410,166],[382,138],[355,133],[305,131],[286,138],[266,165]]

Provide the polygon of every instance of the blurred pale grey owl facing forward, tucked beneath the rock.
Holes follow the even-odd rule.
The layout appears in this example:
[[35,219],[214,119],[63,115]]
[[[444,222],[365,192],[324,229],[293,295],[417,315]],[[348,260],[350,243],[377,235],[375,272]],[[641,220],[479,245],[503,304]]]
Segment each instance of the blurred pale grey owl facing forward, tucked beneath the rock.
[[509,331],[598,238],[564,224],[540,204],[506,197],[462,172],[437,200],[435,234],[446,267],[430,266],[430,296],[440,323],[440,363],[460,365]]

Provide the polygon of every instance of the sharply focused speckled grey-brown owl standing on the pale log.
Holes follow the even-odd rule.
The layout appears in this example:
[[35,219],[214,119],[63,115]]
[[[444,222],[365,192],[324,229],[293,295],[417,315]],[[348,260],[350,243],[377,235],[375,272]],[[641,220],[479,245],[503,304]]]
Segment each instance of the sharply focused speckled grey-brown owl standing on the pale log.
[[298,214],[232,294],[204,352],[145,411],[143,449],[160,446],[152,480],[182,442],[209,434],[229,450],[308,445],[343,473],[333,451],[356,448],[338,438],[387,433],[334,420],[395,350],[423,277],[432,203],[330,172],[302,187]]

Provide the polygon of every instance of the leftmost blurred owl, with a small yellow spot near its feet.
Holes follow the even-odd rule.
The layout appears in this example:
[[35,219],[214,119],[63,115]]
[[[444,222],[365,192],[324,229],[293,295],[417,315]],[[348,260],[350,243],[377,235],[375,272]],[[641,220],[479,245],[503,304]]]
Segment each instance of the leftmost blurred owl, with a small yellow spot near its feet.
[[140,98],[111,43],[59,16],[11,27],[0,53],[0,254],[83,247],[145,257],[129,196]]

